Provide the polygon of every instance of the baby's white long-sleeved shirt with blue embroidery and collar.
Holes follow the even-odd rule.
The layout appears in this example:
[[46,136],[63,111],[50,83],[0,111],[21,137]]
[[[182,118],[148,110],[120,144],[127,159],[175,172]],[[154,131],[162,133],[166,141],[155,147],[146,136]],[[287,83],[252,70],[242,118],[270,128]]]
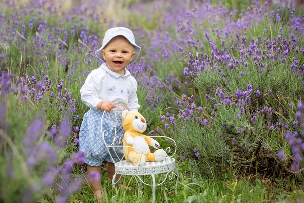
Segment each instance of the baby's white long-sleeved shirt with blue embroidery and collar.
[[[109,70],[105,63],[92,70],[80,89],[82,102],[97,109],[100,101],[111,101],[123,103],[132,111],[138,111],[140,105],[136,94],[137,82],[127,69],[125,71],[125,75],[121,76]],[[123,106],[117,107],[117,111],[124,109]]]

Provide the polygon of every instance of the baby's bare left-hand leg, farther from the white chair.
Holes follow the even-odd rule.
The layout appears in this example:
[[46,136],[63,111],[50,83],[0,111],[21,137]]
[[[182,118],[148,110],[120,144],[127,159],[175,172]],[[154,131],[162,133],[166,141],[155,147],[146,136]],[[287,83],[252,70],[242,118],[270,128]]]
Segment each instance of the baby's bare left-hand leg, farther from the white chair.
[[100,166],[96,167],[87,165],[88,178],[94,192],[94,196],[98,199],[103,199],[103,190],[100,185],[100,170]]

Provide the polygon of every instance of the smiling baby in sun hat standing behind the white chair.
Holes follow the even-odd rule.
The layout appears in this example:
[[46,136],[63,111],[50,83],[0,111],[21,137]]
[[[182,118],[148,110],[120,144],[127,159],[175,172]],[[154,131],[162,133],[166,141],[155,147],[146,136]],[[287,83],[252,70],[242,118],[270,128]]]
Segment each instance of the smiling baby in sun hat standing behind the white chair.
[[[101,117],[104,111],[106,116],[102,120],[102,129],[107,131],[105,141],[111,144],[116,138],[124,134],[122,129],[121,112],[124,107],[132,111],[138,111],[140,105],[137,98],[137,82],[126,69],[138,58],[141,48],[136,45],[135,38],[130,29],[115,27],[106,31],[102,46],[95,53],[103,63],[98,69],[93,70],[80,89],[81,100],[90,110],[85,113],[80,133],[79,150],[85,152],[85,163],[89,182],[98,199],[104,198],[104,192],[100,185],[101,165],[107,162],[108,177],[112,181],[115,173],[113,162],[119,159],[115,152],[109,153],[101,133]],[[113,110],[116,108],[116,111]],[[122,147],[116,151],[119,157],[123,157]],[[94,174],[94,177],[92,176]],[[97,176],[96,176],[97,174]],[[116,176],[119,180],[120,175]]]

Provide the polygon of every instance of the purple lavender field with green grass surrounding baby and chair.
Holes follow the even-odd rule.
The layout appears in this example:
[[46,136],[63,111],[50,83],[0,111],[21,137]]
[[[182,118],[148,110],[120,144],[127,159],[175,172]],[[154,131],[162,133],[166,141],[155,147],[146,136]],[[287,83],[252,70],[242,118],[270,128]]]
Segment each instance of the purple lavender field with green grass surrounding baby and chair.
[[[80,100],[111,27],[142,47],[146,134],[173,138],[180,173],[156,202],[304,201],[300,1],[2,0],[0,202],[98,202],[85,177]],[[160,142],[166,147],[170,143]],[[151,202],[138,180],[106,202]]]

